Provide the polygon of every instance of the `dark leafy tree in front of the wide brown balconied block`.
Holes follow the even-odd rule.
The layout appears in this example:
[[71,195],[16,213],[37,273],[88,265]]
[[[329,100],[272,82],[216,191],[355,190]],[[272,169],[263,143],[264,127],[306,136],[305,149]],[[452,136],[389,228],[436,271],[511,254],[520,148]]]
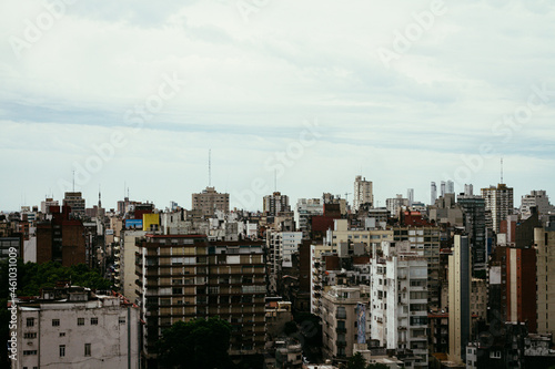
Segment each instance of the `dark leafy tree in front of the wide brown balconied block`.
[[230,338],[231,325],[218,317],[178,321],[162,332],[157,349],[169,368],[224,369],[231,367]]

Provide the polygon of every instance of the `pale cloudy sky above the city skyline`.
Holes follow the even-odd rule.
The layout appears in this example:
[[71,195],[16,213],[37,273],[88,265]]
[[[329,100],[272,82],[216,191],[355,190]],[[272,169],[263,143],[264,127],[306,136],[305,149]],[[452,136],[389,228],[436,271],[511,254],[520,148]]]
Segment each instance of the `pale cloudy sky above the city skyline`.
[[[50,4],[50,6],[46,6]],[[549,0],[4,0],[0,211],[504,180],[555,197]],[[475,191],[476,192],[476,191]],[[352,195],[349,194],[349,198]],[[554,198],[555,199],[555,198]]]

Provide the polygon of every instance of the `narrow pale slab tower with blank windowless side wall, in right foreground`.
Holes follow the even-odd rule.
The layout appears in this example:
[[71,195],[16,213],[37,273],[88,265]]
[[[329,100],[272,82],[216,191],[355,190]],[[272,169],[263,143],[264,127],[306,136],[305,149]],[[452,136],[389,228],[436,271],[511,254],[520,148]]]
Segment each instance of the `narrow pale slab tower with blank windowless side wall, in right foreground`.
[[448,307],[451,361],[463,362],[471,339],[471,253],[467,236],[455,235],[448,256]]

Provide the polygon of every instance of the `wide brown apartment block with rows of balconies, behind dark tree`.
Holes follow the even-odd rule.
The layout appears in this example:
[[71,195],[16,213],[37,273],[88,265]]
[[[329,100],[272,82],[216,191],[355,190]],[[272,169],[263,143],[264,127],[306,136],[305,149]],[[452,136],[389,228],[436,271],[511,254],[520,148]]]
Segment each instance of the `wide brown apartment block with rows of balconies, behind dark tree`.
[[208,242],[204,235],[151,235],[137,240],[142,348],[176,321],[219,316],[232,326],[230,355],[261,353],[265,340],[263,243]]

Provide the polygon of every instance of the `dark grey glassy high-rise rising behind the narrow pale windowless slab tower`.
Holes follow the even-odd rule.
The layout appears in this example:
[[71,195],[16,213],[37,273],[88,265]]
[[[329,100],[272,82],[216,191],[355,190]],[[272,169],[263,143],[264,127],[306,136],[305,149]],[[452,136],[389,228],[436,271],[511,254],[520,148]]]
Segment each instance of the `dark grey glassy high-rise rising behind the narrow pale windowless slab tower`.
[[486,270],[487,264],[485,199],[481,196],[460,195],[457,204],[463,209],[465,230],[471,237],[473,276],[477,277],[478,270]]

